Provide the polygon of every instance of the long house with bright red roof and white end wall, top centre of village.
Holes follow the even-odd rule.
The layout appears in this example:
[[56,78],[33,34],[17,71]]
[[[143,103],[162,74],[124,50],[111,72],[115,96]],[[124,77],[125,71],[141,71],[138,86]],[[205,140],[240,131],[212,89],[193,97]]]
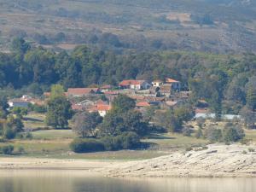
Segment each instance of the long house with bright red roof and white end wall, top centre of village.
[[121,89],[148,90],[150,84],[145,80],[123,80],[119,83]]

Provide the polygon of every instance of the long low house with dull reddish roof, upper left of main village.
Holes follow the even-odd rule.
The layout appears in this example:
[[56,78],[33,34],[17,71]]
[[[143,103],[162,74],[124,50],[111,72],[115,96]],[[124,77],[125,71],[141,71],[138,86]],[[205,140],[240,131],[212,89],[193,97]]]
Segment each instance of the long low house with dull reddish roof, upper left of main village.
[[69,88],[67,90],[68,97],[88,96],[90,94],[99,94],[99,93],[101,93],[99,88]]

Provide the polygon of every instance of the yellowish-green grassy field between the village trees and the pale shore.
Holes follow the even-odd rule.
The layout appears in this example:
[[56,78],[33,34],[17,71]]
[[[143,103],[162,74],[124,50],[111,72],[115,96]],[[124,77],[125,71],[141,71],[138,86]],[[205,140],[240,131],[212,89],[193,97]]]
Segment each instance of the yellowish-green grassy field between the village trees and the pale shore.
[[[170,154],[172,151],[182,150],[191,146],[201,146],[208,143],[205,139],[184,137],[181,134],[162,133],[152,134],[143,143],[151,143],[144,150],[121,150],[112,152],[99,152],[89,154],[75,154],[69,148],[69,143],[76,137],[72,130],[53,130],[44,125],[44,115],[31,113],[25,117],[25,128],[32,130],[31,139],[15,139],[3,145],[15,146],[14,157],[38,157],[38,158],[61,158],[61,159],[86,159],[86,160],[143,160]],[[195,123],[191,122],[190,125]],[[218,126],[224,123],[218,123]],[[195,125],[194,125],[195,126]],[[38,129],[38,127],[40,129]],[[43,127],[43,129],[41,129]],[[246,130],[246,138],[256,143],[256,131]],[[24,153],[19,154],[23,148]]]

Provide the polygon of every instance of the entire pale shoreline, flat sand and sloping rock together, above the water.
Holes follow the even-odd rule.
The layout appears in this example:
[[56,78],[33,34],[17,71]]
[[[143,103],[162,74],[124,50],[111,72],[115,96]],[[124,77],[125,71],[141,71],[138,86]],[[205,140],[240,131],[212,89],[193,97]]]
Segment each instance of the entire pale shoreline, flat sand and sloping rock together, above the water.
[[256,177],[255,145],[212,144],[149,160],[68,160],[0,158],[1,170],[68,170],[96,172],[104,177]]

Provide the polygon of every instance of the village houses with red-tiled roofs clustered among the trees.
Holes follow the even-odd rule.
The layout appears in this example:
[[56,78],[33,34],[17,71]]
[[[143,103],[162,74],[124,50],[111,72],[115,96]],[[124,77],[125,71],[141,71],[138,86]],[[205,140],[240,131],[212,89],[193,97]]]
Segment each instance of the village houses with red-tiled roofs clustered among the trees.
[[[69,88],[65,96],[72,103],[73,110],[98,112],[104,117],[111,109],[113,99],[120,94],[134,99],[137,102],[137,110],[143,112],[150,106],[175,108],[189,98],[190,92],[182,91],[181,82],[175,79],[154,80],[151,83],[146,80],[128,79],[121,81],[119,86],[107,84],[97,88]],[[45,92],[44,98],[49,95],[49,92]],[[22,96],[9,100],[9,107],[27,108],[29,103],[44,105],[44,100]]]

